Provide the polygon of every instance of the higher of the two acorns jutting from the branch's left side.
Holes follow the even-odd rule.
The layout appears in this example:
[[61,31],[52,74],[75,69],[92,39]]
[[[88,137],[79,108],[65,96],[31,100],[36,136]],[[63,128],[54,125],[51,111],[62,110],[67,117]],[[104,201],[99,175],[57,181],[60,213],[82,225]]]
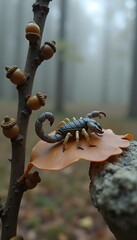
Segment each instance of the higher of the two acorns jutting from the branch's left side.
[[9,78],[13,84],[21,85],[25,82],[25,73],[16,65],[11,67],[5,67],[5,69],[7,71],[6,77]]

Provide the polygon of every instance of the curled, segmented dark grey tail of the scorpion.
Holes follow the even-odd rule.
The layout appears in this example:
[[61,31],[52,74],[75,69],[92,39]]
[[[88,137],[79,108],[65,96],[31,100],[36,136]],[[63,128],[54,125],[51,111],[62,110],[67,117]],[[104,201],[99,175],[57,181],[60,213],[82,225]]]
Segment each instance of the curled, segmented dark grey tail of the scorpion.
[[47,133],[44,132],[43,128],[42,128],[42,123],[48,120],[50,123],[50,126],[52,126],[52,124],[54,123],[54,116],[51,112],[44,112],[42,113],[38,119],[35,122],[35,132],[36,134],[45,142],[48,143],[55,143],[55,142],[59,142],[62,140],[62,136],[59,134],[55,134],[53,136],[48,135]]

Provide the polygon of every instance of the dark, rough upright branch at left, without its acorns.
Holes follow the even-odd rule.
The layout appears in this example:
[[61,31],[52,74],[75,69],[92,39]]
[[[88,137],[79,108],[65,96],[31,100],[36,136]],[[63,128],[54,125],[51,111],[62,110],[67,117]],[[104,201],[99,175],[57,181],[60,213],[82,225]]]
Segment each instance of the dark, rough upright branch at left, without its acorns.
[[[49,11],[48,5],[50,0],[36,0],[33,4],[34,21],[39,25],[41,38],[45,20]],[[9,240],[16,236],[18,213],[21,199],[23,196],[23,186],[18,183],[18,179],[24,172],[26,137],[31,111],[26,106],[26,97],[31,95],[33,81],[37,67],[40,64],[39,50],[41,39],[37,44],[30,44],[24,72],[26,73],[26,82],[19,86],[18,89],[18,113],[17,124],[19,125],[20,135],[11,141],[12,159],[11,159],[11,176],[9,192],[6,204],[1,211],[2,219],[2,236],[1,240]]]

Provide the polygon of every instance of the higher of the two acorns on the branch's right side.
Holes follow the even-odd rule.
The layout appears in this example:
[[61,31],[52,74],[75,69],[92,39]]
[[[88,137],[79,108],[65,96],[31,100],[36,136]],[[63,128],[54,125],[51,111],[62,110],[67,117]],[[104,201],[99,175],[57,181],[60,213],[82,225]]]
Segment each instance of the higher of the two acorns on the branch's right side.
[[53,54],[56,52],[55,44],[55,41],[44,43],[44,45],[40,49],[42,60],[48,60],[53,56]]

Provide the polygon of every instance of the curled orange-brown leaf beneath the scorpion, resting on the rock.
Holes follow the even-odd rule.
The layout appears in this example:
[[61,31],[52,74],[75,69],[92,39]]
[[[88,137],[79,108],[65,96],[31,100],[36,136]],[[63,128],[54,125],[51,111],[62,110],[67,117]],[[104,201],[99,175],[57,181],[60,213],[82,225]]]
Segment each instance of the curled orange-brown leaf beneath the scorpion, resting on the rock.
[[[54,132],[51,133],[53,135]],[[77,149],[74,138],[71,138],[66,145],[66,150],[62,150],[62,142],[47,143],[39,141],[33,148],[28,168],[36,166],[43,170],[61,170],[81,159],[92,162],[103,162],[110,156],[122,153],[121,148],[129,146],[132,135],[116,135],[111,129],[104,130],[101,137],[92,133],[91,143],[95,147],[89,147],[86,139],[81,136],[80,144],[84,150]]]

